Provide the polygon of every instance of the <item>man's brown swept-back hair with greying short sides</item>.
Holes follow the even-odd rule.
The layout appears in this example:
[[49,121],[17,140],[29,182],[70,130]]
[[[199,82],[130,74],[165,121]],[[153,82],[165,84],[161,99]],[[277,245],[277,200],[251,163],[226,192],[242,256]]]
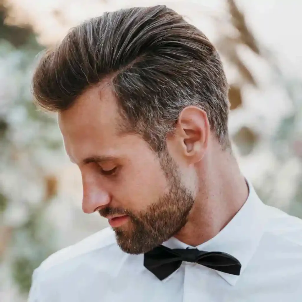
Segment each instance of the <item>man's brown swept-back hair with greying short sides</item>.
[[207,112],[211,130],[229,146],[228,86],[207,37],[163,5],[92,18],[48,50],[34,72],[36,103],[67,110],[87,88],[109,79],[127,124],[156,151],[186,106]]

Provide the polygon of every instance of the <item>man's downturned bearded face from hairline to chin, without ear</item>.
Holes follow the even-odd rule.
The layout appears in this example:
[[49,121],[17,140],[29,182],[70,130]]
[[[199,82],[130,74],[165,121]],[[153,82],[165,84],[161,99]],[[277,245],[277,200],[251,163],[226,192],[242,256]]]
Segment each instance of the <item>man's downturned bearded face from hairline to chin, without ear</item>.
[[119,133],[110,87],[87,90],[58,121],[82,174],[83,211],[108,218],[122,250],[149,251],[185,225],[194,197],[175,161],[155,154],[140,136]]

